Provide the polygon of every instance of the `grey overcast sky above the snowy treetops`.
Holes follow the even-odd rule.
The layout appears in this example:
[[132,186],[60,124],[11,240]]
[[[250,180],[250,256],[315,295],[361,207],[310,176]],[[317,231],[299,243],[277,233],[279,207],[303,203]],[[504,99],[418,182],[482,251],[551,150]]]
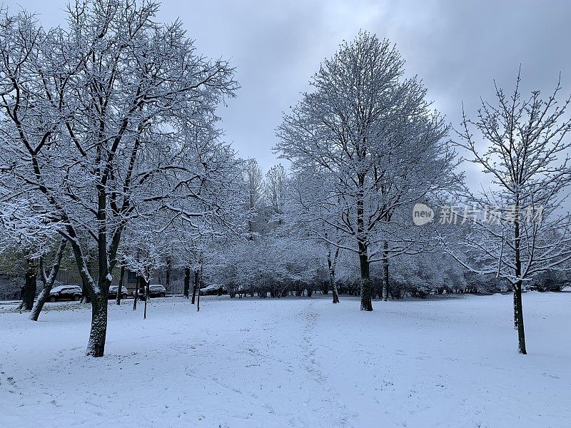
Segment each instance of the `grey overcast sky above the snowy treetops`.
[[[37,11],[46,26],[64,20],[64,0],[0,0]],[[524,89],[552,89],[562,72],[571,93],[571,1],[233,1],[164,0],[160,21],[180,17],[198,51],[230,58],[242,88],[221,107],[226,141],[267,170],[281,114],[308,89],[323,58],[359,29],[397,45],[409,75],[453,123],[461,101],[471,116],[493,82],[512,88],[522,64]]]

